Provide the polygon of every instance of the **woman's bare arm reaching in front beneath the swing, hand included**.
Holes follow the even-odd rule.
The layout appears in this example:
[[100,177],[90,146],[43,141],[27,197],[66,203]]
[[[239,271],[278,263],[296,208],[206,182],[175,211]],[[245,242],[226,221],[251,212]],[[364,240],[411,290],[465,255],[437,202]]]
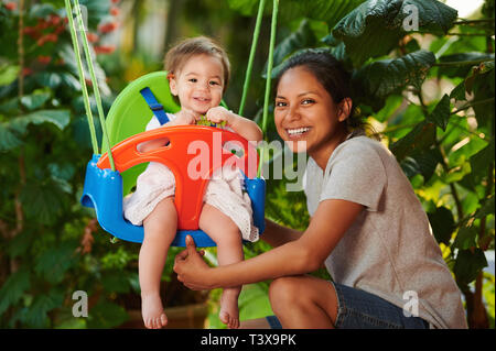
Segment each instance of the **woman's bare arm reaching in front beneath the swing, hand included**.
[[[176,255],[177,278],[193,289],[212,289],[250,284],[317,270],[363,210],[359,204],[324,200],[305,232],[256,257],[209,268],[194,245]],[[272,235],[270,235],[272,237]]]

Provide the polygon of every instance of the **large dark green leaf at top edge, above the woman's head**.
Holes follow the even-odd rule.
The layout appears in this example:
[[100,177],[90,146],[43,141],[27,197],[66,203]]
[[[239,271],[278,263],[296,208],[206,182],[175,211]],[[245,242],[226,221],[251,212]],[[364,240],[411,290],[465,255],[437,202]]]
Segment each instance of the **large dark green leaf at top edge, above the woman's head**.
[[419,31],[445,33],[456,19],[456,10],[435,0],[368,0],[343,18],[333,29],[344,41],[356,66],[370,57],[387,55],[408,32],[403,21],[418,9]]

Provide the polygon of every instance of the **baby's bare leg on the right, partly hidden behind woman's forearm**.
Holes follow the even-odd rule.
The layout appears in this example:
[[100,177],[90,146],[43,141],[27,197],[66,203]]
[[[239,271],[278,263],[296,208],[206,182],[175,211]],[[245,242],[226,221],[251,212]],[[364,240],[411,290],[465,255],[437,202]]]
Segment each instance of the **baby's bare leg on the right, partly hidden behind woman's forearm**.
[[[242,242],[239,228],[217,208],[205,204],[200,216],[200,229],[217,244],[219,265],[242,261]],[[241,287],[225,288],[220,298],[220,321],[229,328],[239,328],[238,297]]]

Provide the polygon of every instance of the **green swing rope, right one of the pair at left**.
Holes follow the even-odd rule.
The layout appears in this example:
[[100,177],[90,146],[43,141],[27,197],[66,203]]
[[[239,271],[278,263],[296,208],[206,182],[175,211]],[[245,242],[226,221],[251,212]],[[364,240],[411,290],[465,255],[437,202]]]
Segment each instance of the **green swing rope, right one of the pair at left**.
[[80,13],[79,0],[74,0],[74,6],[76,8],[76,18],[79,22],[79,28],[82,29],[82,33],[83,33],[82,41],[83,41],[83,47],[84,47],[85,56],[86,56],[86,65],[88,66],[89,75],[91,76],[93,92],[95,95],[95,101],[96,101],[97,109],[98,109],[98,116],[100,118],[101,131],[104,132],[105,142],[108,145],[108,160],[110,162],[111,169],[116,171],[116,165],[114,164],[112,152],[110,150],[110,139],[108,138],[107,124],[105,122],[104,107],[101,106],[100,90],[98,88],[98,81],[96,79],[95,69],[93,66],[93,59],[91,59],[91,55],[89,53],[88,39],[86,37],[86,32],[85,32],[85,28],[84,28],[84,23],[83,23],[83,15]]

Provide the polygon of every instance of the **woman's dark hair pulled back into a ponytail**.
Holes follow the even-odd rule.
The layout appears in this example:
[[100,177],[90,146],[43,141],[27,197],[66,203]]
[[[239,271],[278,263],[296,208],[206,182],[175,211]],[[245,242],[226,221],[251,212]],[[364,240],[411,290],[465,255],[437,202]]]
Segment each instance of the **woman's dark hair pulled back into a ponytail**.
[[[288,58],[276,77],[276,89],[282,75],[294,67],[303,67],[312,73],[335,103],[339,103],[344,98],[352,98],[352,75],[330,52],[310,48]],[[349,131],[365,131],[366,123],[355,113],[354,103],[346,119],[346,125]]]

